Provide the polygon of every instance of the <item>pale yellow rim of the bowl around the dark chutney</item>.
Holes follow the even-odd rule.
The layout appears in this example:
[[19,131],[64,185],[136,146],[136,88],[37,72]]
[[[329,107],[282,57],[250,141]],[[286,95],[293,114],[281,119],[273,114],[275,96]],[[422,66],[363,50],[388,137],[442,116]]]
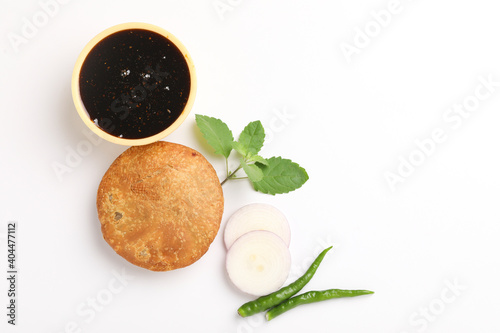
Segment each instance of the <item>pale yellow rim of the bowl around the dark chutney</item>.
[[[184,55],[184,59],[186,60],[188,69],[189,69],[189,76],[191,79],[191,86],[189,90],[189,97],[186,102],[186,105],[184,106],[184,110],[182,110],[181,114],[177,119],[166,129],[163,131],[154,134],[152,136],[146,137],[146,138],[140,138],[140,139],[126,139],[126,138],[120,138],[116,137],[114,135],[109,134],[108,132],[104,131],[102,128],[97,126],[89,117],[88,112],[83,105],[82,98],[80,96],[80,84],[79,84],[79,77],[80,77],[80,71],[83,66],[83,63],[85,59],[87,58],[87,55],[90,53],[90,51],[94,48],[97,43],[99,43],[101,40],[106,38],[107,36],[114,34],[115,32],[122,31],[122,30],[129,30],[129,29],[143,29],[143,30],[149,30],[156,32],[168,40],[170,40],[177,48],[181,51],[181,53]],[[167,135],[171,134],[173,131],[175,131],[181,123],[187,118],[189,115],[189,112],[191,111],[193,104],[194,104],[194,99],[196,95],[196,89],[197,89],[197,80],[196,80],[196,72],[195,72],[195,67],[193,60],[187,51],[186,47],[180,42],[178,38],[176,38],[173,34],[168,32],[167,30],[158,27],[153,24],[149,23],[143,23],[143,22],[128,22],[128,23],[121,23],[115,26],[112,26],[106,30],[103,30],[99,34],[97,34],[94,38],[92,38],[87,45],[83,48],[83,50],[80,52],[80,55],[78,56],[75,66],[73,68],[73,74],[71,77],[71,93],[73,96],[73,103],[75,104],[76,110],[78,111],[78,114],[80,115],[80,118],[82,118],[83,122],[87,127],[92,130],[96,135],[99,137],[120,145],[125,145],[125,146],[140,146],[140,145],[146,145],[150,144],[156,141],[159,141],[163,138],[165,138]]]

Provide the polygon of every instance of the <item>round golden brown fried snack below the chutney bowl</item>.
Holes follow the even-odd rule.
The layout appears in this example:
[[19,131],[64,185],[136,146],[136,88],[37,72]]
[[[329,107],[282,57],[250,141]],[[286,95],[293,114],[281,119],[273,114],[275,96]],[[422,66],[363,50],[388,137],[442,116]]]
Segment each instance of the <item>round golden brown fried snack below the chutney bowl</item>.
[[217,235],[223,210],[212,165],[194,149],[163,141],[127,149],[97,192],[106,242],[152,271],[200,259]]

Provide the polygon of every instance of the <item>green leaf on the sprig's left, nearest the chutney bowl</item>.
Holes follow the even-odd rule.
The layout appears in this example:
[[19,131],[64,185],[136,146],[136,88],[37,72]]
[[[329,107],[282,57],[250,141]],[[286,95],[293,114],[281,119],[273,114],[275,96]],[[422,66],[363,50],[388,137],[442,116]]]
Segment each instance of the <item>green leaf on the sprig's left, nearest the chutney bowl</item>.
[[196,124],[208,144],[215,149],[216,154],[221,154],[225,158],[231,153],[233,133],[227,125],[220,119],[208,116],[196,115]]

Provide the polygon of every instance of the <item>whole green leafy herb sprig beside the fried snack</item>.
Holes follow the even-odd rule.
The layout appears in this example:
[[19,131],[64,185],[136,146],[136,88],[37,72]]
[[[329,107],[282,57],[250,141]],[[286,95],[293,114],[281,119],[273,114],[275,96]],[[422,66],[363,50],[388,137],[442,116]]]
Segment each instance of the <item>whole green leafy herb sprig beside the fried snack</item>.
[[[258,155],[266,136],[259,120],[249,123],[238,141],[234,141],[231,130],[220,119],[196,115],[196,124],[215,153],[226,159],[226,179],[221,185],[228,180],[248,178],[256,191],[275,195],[294,191],[309,179],[306,170],[289,159]],[[233,150],[240,155],[240,165],[229,171],[228,158]],[[247,177],[237,176],[241,169]]]

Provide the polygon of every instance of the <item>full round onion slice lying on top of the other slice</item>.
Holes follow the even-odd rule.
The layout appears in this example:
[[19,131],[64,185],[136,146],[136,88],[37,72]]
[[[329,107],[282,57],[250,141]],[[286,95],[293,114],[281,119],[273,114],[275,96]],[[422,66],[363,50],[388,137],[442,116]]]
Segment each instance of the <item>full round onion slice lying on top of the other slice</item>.
[[290,251],[270,231],[251,231],[238,238],[226,256],[229,279],[241,291],[267,295],[285,283],[290,272]]

